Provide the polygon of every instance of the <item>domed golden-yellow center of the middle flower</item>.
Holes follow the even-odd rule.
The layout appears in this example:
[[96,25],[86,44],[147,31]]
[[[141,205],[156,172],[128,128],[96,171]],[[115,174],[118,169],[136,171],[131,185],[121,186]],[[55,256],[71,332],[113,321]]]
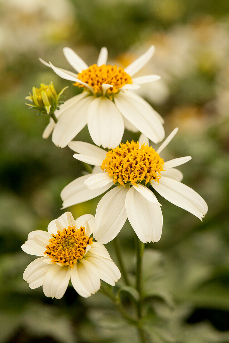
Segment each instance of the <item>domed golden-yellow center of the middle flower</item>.
[[160,174],[163,169],[164,160],[152,148],[152,146],[132,141],[120,144],[108,151],[101,169],[106,170],[113,178],[114,184],[118,182],[123,185],[131,182],[141,182],[146,185],[149,181],[159,182]]

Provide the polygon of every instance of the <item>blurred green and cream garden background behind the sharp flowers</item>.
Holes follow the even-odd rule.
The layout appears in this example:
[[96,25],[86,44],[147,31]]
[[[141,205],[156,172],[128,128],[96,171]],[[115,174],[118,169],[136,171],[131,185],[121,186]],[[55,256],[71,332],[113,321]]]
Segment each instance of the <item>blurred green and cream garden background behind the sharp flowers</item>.
[[[84,299],[69,287],[61,300],[31,290],[22,279],[33,260],[21,250],[30,231],[46,229],[62,211],[62,188],[84,170],[73,152],[42,139],[45,116],[24,98],[39,86],[64,86],[66,98],[80,91],[38,58],[72,70],[62,48],[95,63],[107,46],[110,63],[126,67],[151,44],[152,60],[140,72],[159,74],[139,94],[164,117],[166,135],[179,131],[166,156],[193,158],[180,167],[184,183],[207,201],[203,223],[160,198],[162,238],[147,244],[145,311],[149,341],[229,342],[228,108],[229,35],[225,0],[1,0],[0,1],[0,341],[137,342],[99,292]],[[139,134],[126,131],[126,139]],[[91,142],[87,127],[78,140]],[[70,208],[95,214],[99,198]],[[120,235],[124,261],[134,273],[129,223]],[[116,261],[112,243],[107,245]],[[122,279],[119,283],[122,283]],[[123,298],[128,306],[128,299]]]

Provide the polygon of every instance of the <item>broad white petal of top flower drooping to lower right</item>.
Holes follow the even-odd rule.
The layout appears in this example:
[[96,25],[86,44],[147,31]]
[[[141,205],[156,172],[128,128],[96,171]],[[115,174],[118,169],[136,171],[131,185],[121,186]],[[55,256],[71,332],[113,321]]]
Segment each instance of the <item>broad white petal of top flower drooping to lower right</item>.
[[120,92],[114,97],[114,103],[122,115],[151,141],[158,143],[164,138],[165,131],[156,111],[140,96],[130,91]]

